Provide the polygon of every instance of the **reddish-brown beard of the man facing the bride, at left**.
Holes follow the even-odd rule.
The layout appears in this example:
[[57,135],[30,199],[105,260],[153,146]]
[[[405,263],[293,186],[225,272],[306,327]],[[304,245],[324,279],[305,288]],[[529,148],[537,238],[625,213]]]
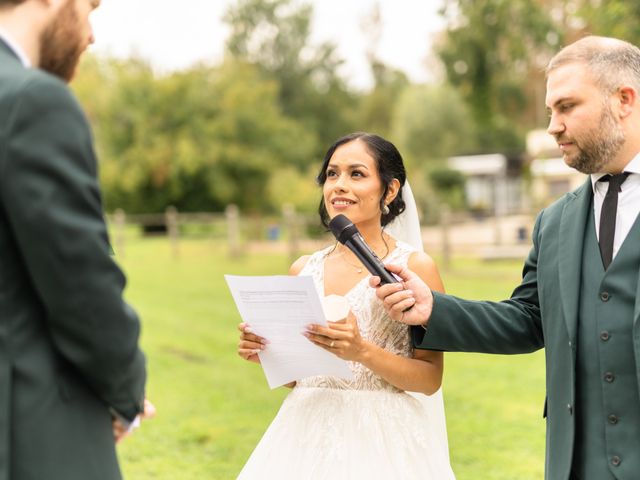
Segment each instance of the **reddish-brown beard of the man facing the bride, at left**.
[[40,38],[40,68],[70,82],[86,45],[74,0],[68,0]]

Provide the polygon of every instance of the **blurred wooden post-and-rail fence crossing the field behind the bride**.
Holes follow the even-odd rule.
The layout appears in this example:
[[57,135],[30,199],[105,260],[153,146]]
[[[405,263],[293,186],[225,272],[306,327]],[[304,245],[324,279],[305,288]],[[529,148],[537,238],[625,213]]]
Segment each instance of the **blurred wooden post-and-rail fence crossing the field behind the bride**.
[[[529,248],[533,217],[474,218],[465,213],[439,211],[440,222],[423,228],[424,246],[432,255],[440,256],[447,268],[454,255],[479,256],[485,260],[524,257]],[[317,215],[296,212],[284,206],[277,216],[242,215],[235,205],[224,213],[179,212],[169,207],[160,214],[126,214],[117,210],[107,216],[111,224],[114,249],[119,257],[127,252],[127,242],[135,235],[164,235],[171,244],[171,254],[180,256],[183,239],[203,235],[225,243],[231,257],[239,257],[249,249],[285,251],[291,260],[334,241],[331,234],[318,228]],[[313,234],[310,234],[310,232]]]

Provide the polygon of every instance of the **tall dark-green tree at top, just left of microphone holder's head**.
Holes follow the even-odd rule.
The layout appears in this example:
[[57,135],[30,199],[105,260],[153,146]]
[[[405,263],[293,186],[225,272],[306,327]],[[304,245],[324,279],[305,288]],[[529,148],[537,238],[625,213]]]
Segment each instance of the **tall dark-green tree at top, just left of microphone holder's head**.
[[471,109],[483,151],[523,148],[517,126],[531,108],[527,79],[543,81],[541,70],[561,39],[545,3],[445,0],[448,28],[436,50]]

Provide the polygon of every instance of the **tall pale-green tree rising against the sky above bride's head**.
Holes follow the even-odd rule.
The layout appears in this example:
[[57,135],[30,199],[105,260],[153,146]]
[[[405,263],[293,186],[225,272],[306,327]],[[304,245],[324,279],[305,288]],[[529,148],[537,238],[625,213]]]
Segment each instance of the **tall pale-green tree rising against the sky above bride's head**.
[[317,138],[316,157],[352,130],[355,98],[337,75],[342,64],[330,42],[310,44],[313,9],[291,0],[240,0],[224,20],[227,50],[260,67],[279,86],[283,113]]

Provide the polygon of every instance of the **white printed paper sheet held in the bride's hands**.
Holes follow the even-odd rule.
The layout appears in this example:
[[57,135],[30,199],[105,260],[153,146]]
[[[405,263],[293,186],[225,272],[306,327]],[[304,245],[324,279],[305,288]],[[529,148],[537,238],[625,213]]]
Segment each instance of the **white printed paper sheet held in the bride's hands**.
[[308,324],[326,325],[311,277],[225,275],[225,279],[242,320],[269,341],[258,354],[269,387],[315,375],[353,379],[346,361],[302,335]]

